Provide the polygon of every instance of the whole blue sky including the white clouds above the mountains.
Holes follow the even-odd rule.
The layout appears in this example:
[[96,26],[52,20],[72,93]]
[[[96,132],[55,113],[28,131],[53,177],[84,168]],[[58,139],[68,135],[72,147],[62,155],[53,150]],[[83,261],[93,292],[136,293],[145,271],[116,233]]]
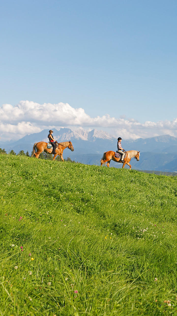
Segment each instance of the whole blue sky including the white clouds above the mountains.
[[176,1],[7,0],[0,26],[1,140],[50,126],[177,137]]

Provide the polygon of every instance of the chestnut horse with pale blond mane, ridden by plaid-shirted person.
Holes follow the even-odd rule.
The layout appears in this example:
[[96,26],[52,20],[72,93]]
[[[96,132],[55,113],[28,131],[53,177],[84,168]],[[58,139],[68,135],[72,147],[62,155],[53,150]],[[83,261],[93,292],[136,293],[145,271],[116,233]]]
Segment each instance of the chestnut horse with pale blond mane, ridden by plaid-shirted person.
[[[129,164],[129,161],[131,160],[131,158],[134,157],[137,161],[140,160],[140,152],[137,150],[128,150],[126,151],[126,155],[124,156],[124,162],[123,162],[123,168],[125,167],[125,165],[127,164],[130,167],[131,170],[131,165]],[[107,162],[107,167],[109,167],[110,161],[111,159],[113,161],[116,162],[121,162],[121,155],[119,158],[115,157],[115,151],[105,151],[105,153],[103,154],[103,157],[101,158],[101,166],[103,163]],[[122,163],[122,162],[121,162]]]

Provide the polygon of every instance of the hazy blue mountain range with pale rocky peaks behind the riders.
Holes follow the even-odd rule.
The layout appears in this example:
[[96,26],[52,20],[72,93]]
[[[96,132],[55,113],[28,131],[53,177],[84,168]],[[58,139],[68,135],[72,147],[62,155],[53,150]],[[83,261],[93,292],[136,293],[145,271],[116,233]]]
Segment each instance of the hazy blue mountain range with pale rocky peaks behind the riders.
[[[85,164],[100,165],[100,159],[107,150],[117,149],[117,138],[105,131],[84,131],[78,129],[71,131],[69,128],[61,128],[59,131],[53,129],[54,138],[58,142],[71,140],[74,152],[65,149],[63,157],[68,156],[75,161]],[[26,135],[15,142],[1,142],[0,147],[7,152],[14,150],[18,153],[20,150],[31,153],[33,144],[39,141],[48,142],[49,131],[43,130],[39,133]],[[119,135],[118,135],[119,136]],[[177,138],[169,135],[156,136],[150,138],[138,138],[136,140],[123,140],[125,150],[140,151],[140,161],[131,160],[133,169],[155,170],[163,172],[177,172]],[[111,161],[110,166],[122,167],[122,164]]]

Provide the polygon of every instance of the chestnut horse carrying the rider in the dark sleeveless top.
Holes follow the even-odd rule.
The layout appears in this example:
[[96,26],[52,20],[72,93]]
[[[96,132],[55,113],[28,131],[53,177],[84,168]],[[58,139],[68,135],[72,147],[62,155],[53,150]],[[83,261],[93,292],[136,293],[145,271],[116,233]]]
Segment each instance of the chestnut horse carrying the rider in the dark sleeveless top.
[[[74,148],[72,146],[71,141],[69,142],[63,142],[63,143],[58,143],[58,147],[55,149],[56,154],[54,154],[54,158],[53,160],[55,160],[56,156],[59,155],[61,160],[64,161],[63,159],[63,150],[65,148],[69,148],[71,151],[74,151]],[[51,149],[47,148],[47,143],[45,142],[39,142],[39,143],[35,143],[33,146],[33,152],[32,155],[35,155],[36,158],[39,158],[40,153],[45,152],[47,154],[52,154],[53,152],[53,147]]]

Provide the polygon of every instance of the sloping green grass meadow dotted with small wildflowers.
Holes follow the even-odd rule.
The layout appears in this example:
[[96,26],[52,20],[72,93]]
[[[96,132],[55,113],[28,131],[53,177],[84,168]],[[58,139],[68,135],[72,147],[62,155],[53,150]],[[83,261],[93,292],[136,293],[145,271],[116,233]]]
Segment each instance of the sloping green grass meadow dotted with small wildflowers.
[[0,315],[177,315],[176,177],[0,164]]

